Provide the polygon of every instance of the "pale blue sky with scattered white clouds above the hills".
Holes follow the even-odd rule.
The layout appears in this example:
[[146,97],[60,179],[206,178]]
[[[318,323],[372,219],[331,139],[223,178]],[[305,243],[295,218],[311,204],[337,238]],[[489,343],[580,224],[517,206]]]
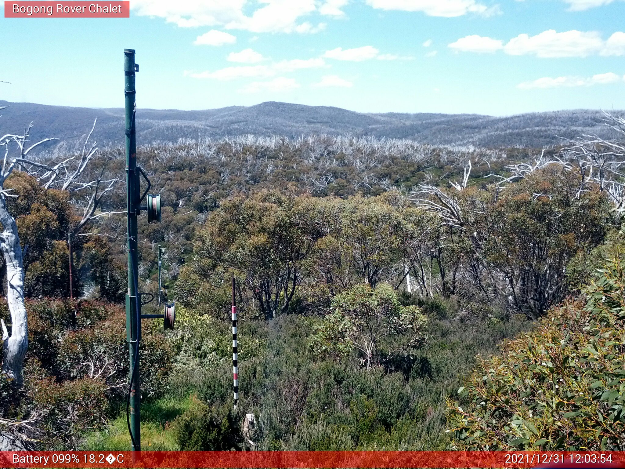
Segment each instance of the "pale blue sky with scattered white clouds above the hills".
[[[1,3],[0,3],[1,5]],[[625,0],[131,0],[4,18],[0,99],[140,109],[285,101],[370,113],[625,109]],[[0,11],[3,9],[0,6]]]

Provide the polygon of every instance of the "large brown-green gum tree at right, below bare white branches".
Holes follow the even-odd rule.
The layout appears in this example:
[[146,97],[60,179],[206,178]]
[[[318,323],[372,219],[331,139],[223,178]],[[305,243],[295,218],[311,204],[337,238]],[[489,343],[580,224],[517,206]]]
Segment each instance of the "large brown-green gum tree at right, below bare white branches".
[[469,236],[460,234],[457,251],[478,290],[462,293],[492,298],[507,291],[511,306],[531,318],[562,301],[567,264],[600,245],[612,223],[605,194],[578,194],[578,186],[579,176],[549,166],[501,194],[463,191],[462,229]]

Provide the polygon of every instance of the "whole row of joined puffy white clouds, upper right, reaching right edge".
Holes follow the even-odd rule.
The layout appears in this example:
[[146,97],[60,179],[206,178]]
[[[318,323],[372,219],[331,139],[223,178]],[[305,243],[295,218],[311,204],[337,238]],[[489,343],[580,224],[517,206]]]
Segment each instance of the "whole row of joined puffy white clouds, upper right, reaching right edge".
[[535,55],[541,58],[587,57],[600,54],[602,56],[625,56],[625,33],[612,34],[607,41],[596,31],[564,31],[556,33],[554,29],[543,31],[536,36],[519,34],[504,45],[499,39],[492,39],[473,34],[458,39],[448,46],[462,52],[495,52],[502,49],[504,53],[521,56]]

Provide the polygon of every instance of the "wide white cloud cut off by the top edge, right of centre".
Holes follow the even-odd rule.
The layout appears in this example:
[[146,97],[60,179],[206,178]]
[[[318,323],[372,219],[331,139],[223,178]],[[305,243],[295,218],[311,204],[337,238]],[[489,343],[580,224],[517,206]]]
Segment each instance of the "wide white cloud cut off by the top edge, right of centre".
[[373,8],[383,10],[421,11],[428,16],[462,16],[477,13],[484,16],[499,13],[497,6],[488,8],[475,0],[367,0]]

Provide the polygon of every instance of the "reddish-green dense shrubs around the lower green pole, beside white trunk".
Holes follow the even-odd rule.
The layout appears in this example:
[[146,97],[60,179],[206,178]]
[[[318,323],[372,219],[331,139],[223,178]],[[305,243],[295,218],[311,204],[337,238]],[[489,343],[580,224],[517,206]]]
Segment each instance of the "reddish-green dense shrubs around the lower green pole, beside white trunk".
[[[101,428],[128,390],[126,320],[118,305],[101,301],[28,300],[26,385],[0,383],[0,416],[32,420],[39,448],[76,448],[86,431]],[[6,316],[0,305],[0,316]],[[162,327],[162,326],[161,326]],[[163,393],[173,350],[156,323],[145,323],[143,396]]]

